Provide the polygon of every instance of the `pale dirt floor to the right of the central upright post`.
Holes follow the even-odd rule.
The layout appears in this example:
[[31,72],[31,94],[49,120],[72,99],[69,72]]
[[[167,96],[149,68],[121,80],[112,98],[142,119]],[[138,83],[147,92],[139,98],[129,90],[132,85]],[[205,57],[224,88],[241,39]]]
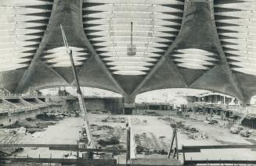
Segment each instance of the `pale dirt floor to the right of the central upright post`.
[[[198,130],[197,133],[204,133],[207,138],[197,137],[196,139],[189,138],[189,134],[184,129],[178,129],[178,149],[184,146],[201,146],[201,145],[222,145],[222,144],[252,144],[256,139],[244,138],[237,134],[232,134],[229,129],[223,128],[222,125],[210,125],[205,122],[196,121],[193,119],[179,118],[178,116],[140,116],[134,115],[133,129],[135,134],[146,133],[146,146],[152,149],[163,148],[168,150],[171,144],[172,128],[170,122],[164,121],[161,118],[174,118],[175,121],[181,121],[185,125],[189,125]],[[157,140],[157,141],[156,141]],[[141,143],[143,144],[143,143]],[[151,155],[150,155],[151,156]],[[146,156],[146,157],[150,157]],[[145,157],[140,154],[137,157]],[[154,157],[166,157],[164,155],[154,154]],[[193,160],[255,160],[256,151],[254,149],[227,149],[227,150],[202,150],[201,153],[186,154],[186,159]],[[182,154],[180,154],[182,158]]]

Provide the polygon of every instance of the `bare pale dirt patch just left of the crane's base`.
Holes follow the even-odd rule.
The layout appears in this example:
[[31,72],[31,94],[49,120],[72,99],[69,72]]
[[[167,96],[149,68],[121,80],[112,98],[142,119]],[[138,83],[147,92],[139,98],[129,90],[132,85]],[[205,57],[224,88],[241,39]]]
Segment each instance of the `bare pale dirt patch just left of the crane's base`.
[[[38,136],[32,137],[30,134],[23,136],[19,143],[41,143],[41,144],[76,144],[79,139],[79,131],[83,120],[81,118],[68,117],[56,123],[49,125],[43,132],[38,132]],[[29,157],[60,157],[70,152],[49,150],[49,148],[24,148],[24,150],[16,156]],[[75,154],[75,153],[73,153]],[[70,158],[74,158],[71,155]]]

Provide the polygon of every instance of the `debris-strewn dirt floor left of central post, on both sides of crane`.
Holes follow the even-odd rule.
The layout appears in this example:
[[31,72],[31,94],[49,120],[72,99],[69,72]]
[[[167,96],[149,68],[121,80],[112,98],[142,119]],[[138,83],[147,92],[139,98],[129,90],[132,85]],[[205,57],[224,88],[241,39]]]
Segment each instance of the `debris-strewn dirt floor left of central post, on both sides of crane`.
[[[126,122],[127,119],[122,116],[106,115],[106,114],[88,114],[91,120],[91,129],[94,140],[110,140],[115,137],[118,143],[115,145],[106,145],[98,147],[102,148],[119,148],[126,149]],[[33,126],[38,122],[22,122],[23,125]],[[41,121],[40,121],[41,122]],[[44,123],[42,121],[41,123]],[[82,118],[67,117],[58,122],[45,121],[52,123],[41,132],[34,134],[13,134],[9,133],[9,129],[0,129],[0,143],[41,143],[41,144],[76,144],[79,140],[79,131],[83,125]],[[68,158],[74,158],[76,153],[70,151],[49,150],[48,148],[23,148],[23,151],[14,153],[13,156],[19,157],[57,157],[62,158],[65,154],[70,154]],[[125,154],[115,155],[117,162],[125,162]]]

